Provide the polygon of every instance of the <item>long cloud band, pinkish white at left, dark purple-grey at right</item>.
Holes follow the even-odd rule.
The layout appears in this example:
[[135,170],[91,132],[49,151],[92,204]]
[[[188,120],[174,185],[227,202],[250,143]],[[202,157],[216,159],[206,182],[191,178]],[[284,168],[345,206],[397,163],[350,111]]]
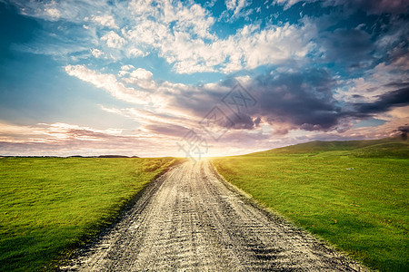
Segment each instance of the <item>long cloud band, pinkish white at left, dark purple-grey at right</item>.
[[177,128],[185,128],[182,131],[200,128],[199,121],[214,105],[219,105],[233,121],[233,125],[225,121],[216,123],[219,127],[230,131],[258,131],[268,126],[272,134],[285,135],[297,130],[347,131],[352,128],[353,119],[367,119],[409,104],[407,83],[390,82],[378,87],[381,92],[370,90],[372,95],[367,97],[350,93],[354,99],[348,101],[340,100],[342,96],[335,95],[341,92],[339,88],[344,82],[336,80],[325,69],[275,69],[253,79],[244,77],[244,86],[257,103],[248,111],[236,115],[222,103],[224,95],[234,87],[234,79],[195,86],[155,82],[153,73],[143,68],[135,69],[132,65],[121,68],[120,80],[113,74],[96,73],[84,65],[69,65],[65,70],[118,99],[143,107],[103,108],[105,112],[134,119],[141,125],[140,130],[146,133],[168,131],[170,134],[167,136],[175,136]]

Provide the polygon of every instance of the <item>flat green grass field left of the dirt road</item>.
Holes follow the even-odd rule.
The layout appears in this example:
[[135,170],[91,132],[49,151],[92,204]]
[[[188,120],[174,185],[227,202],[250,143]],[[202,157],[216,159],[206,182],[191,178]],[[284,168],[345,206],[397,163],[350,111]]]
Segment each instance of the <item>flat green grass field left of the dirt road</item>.
[[0,159],[0,270],[52,269],[175,162]]

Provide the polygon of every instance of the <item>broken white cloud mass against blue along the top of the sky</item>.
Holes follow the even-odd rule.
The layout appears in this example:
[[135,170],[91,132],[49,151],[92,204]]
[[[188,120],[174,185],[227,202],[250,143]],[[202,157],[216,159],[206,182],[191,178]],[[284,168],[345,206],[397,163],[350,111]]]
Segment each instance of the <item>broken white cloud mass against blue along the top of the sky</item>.
[[[100,36],[93,47],[102,48],[98,50],[105,56],[113,55],[114,62],[155,53],[170,63],[176,73],[232,73],[301,59],[314,49],[315,28],[306,21],[303,25],[267,25],[264,29],[260,24],[246,24],[235,34],[218,38],[213,32],[214,17],[201,5],[132,1],[127,6],[117,4],[119,14],[115,15],[103,3],[83,3],[82,9],[75,8],[69,14],[64,14],[65,5],[53,6],[62,14],[60,19],[77,22],[78,18],[85,18],[90,25],[84,30]],[[227,5],[238,15],[248,3],[238,0]],[[30,6],[30,14],[37,16],[35,5]],[[38,8],[41,6],[37,4]],[[101,25],[115,31],[105,32]]]

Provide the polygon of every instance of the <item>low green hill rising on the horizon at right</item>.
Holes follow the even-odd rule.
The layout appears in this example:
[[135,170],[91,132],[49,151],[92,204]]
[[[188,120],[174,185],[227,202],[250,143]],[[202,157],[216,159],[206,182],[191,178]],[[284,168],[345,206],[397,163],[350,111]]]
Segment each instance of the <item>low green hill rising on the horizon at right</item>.
[[309,141],[270,151],[248,154],[250,156],[269,156],[280,154],[323,153],[327,151],[347,151],[344,155],[361,158],[408,158],[409,142],[402,138],[385,138],[364,141]]

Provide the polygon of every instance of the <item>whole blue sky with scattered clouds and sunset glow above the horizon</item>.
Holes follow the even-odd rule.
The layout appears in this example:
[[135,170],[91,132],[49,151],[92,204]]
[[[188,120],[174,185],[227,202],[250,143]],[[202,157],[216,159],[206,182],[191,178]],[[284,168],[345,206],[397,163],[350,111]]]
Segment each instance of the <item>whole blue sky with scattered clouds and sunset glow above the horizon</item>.
[[409,123],[407,0],[0,0],[0,155],[201,158]]

